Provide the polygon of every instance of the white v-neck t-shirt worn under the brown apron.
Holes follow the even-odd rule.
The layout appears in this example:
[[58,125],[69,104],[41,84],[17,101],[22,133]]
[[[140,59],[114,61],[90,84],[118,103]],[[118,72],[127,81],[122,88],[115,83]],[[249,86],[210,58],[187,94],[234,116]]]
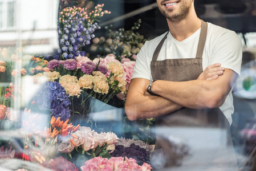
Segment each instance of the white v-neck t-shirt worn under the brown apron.
[[[201,28],[181,42],[174,39],[169,32],[164,44],[162,45],[157,60],[196,58],[200,31]],[[162,38],[164,38],[165,34],[166,32],[155,39],[145,42],[144,46],[141,47],[139,54],[137,54],[132,79],[144,78],[152,80],[150,67],[151,60],[157,45],[160,43]],[[229,68],[240,75],[242,63],[242,42],[234,31],[208,23],[207,37],[202,55],[203,70],[214,63],[221,63],[222,67]],[[231,114],[234,112],[231,91],[227,95],[226,100],[220,109],[231,124]]]

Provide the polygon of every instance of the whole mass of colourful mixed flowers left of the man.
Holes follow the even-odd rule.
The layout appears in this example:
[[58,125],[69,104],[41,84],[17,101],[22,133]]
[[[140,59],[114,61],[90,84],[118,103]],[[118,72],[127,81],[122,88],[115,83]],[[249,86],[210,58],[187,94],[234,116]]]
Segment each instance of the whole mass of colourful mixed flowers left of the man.
[[[104,116],[109,105],[124,107],[134,60],[145,39],[132,34],[135,27],[129,34],[119,30],[108,32],[110,37],[95,38],[94,32],[100,29],[96,22],[110,12],[103,10],[104,4],[93,6],[87,9],[60,5],[60,48],[50,55],[24,54],[22,48],[14,52],[0,48],[0,126],[9,129],[6,125],[11,125],[18,132],[17,137],[10,139],[7,135],[1,141],[5,145],[0,148],[1,159],[26,160],[33,166],[37,164],[39,170],[152,169],[151,165],[143,164],[149,162],[151,153],[147,144],[127,140],[126,145],[114,133],[115,125],[101,127],[97,116]],[[112,35],[116,34],[120,36],[115,39]],[[135,35],[138,37],[132,40]],[[91,40],[96,48],[107,44],[104,48],[109,48],[109,53],[88,58],[84,50]],[[31,84],[21,86],[13,82],[17,80],[29,80]],[[120,111],[116,114],[123,115],[124,110]],[[14,139],[19,145],[23,142],[18,153],[10,148]],[[27,166],[18,168],[30,170]]]

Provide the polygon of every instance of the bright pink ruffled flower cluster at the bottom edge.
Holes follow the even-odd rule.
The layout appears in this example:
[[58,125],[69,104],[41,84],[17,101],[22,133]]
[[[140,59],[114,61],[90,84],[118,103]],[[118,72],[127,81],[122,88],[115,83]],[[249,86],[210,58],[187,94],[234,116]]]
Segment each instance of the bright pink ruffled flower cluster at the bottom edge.
[[123,157],[111,157],[109,159],[102,157],[95,157],[91,160],[84,162],[83,166],[80,167],[83,171],[91,170],[145,170],[150,171],[152,169],[151,165],[144,163],[139,166],[136,160],[132,158]]

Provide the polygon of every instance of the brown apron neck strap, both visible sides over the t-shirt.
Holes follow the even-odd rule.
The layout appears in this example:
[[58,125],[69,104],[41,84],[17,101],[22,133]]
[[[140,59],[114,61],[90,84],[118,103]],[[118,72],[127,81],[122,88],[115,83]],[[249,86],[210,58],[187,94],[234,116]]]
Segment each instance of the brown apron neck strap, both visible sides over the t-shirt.
[[[202,20],[201,20],[202,21]],[[206,40],[206,35],[207,35],[207,28],[208,25],[206,22],[202,21],[201,24],[201,32],[200,32],[200,37],[199,37],[199,42],[198,42],[198,46],[197,46],[197,55],[196,58],[202,58],[202,53],[204,52],[204,47],[205,47],[205,40]],[[165,34],[164,38],[162,38],[161,42],[159,43],[159,45],[156,47],[156,50],[153,54],[153,58],[152,61],[156,61],[160,50],[162,48],[162,44],[164,44],[165,39],[167,38],[167,35],[169,34],[169,31]]]

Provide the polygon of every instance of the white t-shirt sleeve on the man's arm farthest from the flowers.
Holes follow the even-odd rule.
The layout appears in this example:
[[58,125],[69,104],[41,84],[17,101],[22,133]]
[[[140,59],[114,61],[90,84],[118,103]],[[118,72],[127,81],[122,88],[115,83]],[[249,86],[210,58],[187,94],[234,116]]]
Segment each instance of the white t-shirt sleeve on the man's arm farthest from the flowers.
[[217,39],[212,48],[209,64],[221,63],[240,75],[242,63],[242,42],[234,31],[225,32]]

